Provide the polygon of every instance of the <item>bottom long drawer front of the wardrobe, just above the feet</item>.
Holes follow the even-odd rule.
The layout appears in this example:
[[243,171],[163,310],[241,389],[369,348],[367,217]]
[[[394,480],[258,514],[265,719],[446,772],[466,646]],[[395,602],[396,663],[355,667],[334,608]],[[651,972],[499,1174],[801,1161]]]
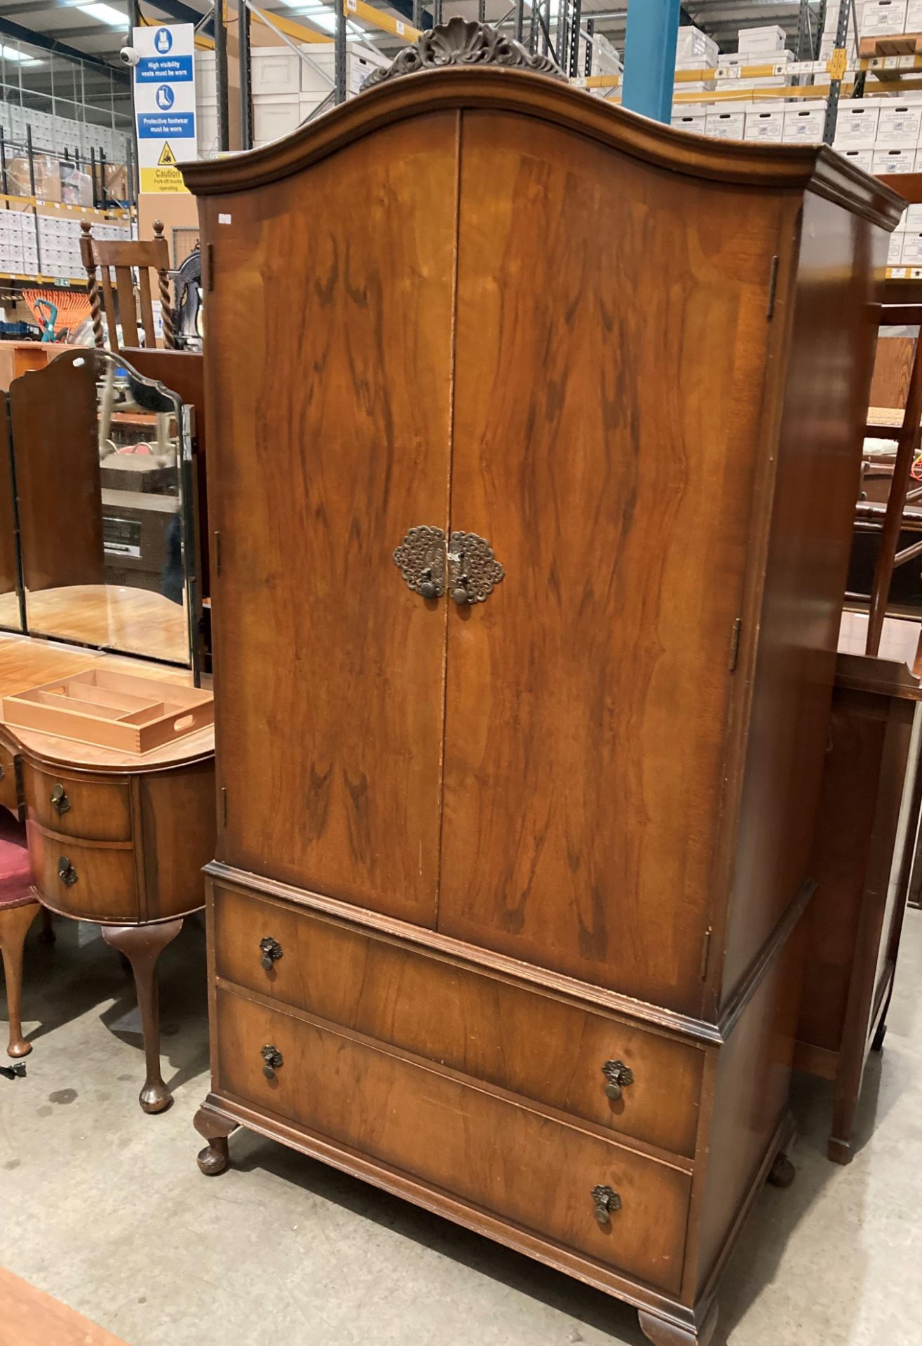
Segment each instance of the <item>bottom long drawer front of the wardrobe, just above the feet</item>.
[[[690,1179],[328,1027],[218,992],[218,1088],[676,1294]],[[262,1049],[283,1065],[264,1074]],[[622,1201],[607,1226],[592,1189]]]

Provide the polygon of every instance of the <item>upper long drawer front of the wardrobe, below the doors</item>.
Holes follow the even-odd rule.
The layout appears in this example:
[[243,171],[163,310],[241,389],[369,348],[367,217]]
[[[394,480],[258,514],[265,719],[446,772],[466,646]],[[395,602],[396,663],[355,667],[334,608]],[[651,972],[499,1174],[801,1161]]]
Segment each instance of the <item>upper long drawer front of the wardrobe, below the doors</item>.
[[[269,972],[260,942],[281,957]],[[563,1112],[693,1155],[704,1053],[393,940],[214,887],[218,976]],[[606,1094],[606,1062],[634,1082]]]

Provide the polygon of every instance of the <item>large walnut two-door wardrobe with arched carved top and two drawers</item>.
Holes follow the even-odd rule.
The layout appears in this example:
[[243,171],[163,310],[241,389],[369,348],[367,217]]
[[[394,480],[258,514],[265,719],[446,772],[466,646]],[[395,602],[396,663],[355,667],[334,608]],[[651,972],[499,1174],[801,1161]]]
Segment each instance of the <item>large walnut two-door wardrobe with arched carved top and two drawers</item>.
[[218,707],[199,1163],[244,1124],[705,1341],[790,1176],[899,203],[478,24],[415,52],[184,170]]

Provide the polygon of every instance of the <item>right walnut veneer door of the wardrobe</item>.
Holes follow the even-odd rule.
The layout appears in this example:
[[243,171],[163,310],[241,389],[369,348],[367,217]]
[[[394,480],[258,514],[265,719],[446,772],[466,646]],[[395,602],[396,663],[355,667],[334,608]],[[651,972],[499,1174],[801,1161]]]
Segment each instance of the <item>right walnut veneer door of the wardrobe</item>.
[[439,927],[695,1012],[781,206],[462,125]]

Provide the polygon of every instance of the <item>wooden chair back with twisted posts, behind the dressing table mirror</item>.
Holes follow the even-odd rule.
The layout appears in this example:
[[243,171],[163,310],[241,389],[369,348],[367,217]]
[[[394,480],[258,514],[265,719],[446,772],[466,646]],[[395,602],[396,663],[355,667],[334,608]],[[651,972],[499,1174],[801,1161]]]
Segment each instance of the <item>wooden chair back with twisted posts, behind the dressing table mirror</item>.
[[[105,346],[102,335],[102,311],[105,310],[109,328],[109,349],[140,346],[137,297],[140,297],[140,323],[144,332],[144,346],[156,346],[153,331],[153,304],[151,300],[149,271],[157,273],[160,289],[160,310],[163,314],[163,343],[168,350],[175,347],[174,314],[170,304],[170,252],[163,237],[163,223],[153,221],[155,237],[147,242],[131,240],[110,242],[93,237],[93,226],[87,219],[81,223],[81,257],[86,269],[86,288],[90,296],[93,316],[93,338],[100,347]],[[137,268],[139,293],[135,292],[132,269]],[[112,272],[114,272],[114,281]],[[100,287],[101,280],[101,287]],[[116,318],[117,315],[117,318]],[[118,326],[121,323],[121,341]]]

